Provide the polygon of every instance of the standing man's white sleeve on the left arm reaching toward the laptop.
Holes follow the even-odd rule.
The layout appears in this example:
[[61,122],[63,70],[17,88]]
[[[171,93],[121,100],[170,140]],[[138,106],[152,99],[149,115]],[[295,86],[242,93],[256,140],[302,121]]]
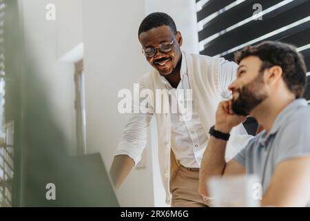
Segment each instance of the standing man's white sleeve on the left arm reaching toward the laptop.
[[[141,91],[144,89],[144,84],[141,84]],[[130,113],[126,115],[126,124],[123,131],[121,142],[119,142],[115,155],[128,155],[134,160],[134,164],[138,164],[141,160],[143,149],[147,143],[147,127],[149,126],[153,117],[153,108],[151,105],[147,106],[147,111],[141,113],[138,107],[142,104],[143,98],[140,98],[139,103],[133,104],[130,108]],[[145,107],[143,107],[145,108]]]

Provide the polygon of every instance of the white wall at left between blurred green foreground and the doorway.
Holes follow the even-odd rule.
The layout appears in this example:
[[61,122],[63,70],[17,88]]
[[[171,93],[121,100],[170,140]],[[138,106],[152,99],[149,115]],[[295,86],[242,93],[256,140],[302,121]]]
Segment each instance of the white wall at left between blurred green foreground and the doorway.
[[39,81],[48,96],[50,112],[72,147],[69,151],[73,154],[76,146],[74,65],[58,60],[57,23],[45,19],[48,3],[56,4],[56,1],[19,1],[25,28],[25,50],[31,52],[33,66],[41,73]]

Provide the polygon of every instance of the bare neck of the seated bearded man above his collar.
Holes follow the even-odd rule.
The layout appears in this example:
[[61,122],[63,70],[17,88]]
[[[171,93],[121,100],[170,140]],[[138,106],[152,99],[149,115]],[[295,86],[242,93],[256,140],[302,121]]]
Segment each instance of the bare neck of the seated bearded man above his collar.
[[291,104],[294,99],[295,97],[292,95],[268,97],[262,102],[262,104],[259,104],[253,111],[251,111],[251,115],[253,115],[253,117],[257,119],[258,124],[265,128],[267,133],[269,133],[279,113]]

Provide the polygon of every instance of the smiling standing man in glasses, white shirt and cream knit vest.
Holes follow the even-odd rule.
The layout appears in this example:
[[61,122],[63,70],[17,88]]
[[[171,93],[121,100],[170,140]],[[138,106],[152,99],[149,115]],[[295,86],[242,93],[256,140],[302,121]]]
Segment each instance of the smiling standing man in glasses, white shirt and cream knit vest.
[[[182,35],[165,13],[155,12],[145,17],[138,29],[138,39],[152,66],[139,81],[140,89],[151,90],[154,94],[155,90],[161,90],[164,97],[171,95],[169,109],[173,108],[172,100],[176,99],[178,90],[190,90],[192,96],[177,99],[177,108],[179,110],[185,102],[192,106],[192,111],[186,115],[180,111],[157,113],[152,102],[146,114],[132,111],[112,163],[112,182],[118,188],[140,160],[147,142],[147,126],[155,115],[158,161],[167,204],[206,206],[207,200],[198,193],[200,162],[209,142],[208,129],[215,123],[216,107],[229,97],[227,86],[235,79],[238,66],[223,58],[181,51]],[[230,157],[245,146],[249,137],[242,124],[234,129],[229,139]]]

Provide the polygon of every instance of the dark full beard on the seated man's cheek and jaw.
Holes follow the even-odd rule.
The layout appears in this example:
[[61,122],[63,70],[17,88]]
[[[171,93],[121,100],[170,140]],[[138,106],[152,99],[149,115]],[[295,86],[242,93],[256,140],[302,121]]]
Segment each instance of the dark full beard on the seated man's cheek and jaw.
[[267,99],[268,95],[264,90],[265,84],[262,75],[250,81],[240,89],[237,89],[239,96],[232,99],[231,108],[237,115],[248,116],[249,113]]

